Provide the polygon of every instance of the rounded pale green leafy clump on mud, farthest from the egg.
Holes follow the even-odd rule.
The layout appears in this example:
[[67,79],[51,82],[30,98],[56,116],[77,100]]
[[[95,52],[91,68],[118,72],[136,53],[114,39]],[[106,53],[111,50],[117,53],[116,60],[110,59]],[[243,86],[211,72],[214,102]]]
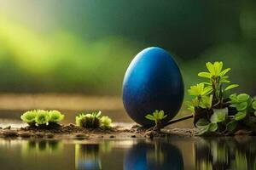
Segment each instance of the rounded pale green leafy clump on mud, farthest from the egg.
[[60,111],[44,111],[44,110],[33,110],[26,111],[20,116],[23,122],[26,122],[32,127],[46,127],[50,125],[56,125],[61,122],[64,115]]

